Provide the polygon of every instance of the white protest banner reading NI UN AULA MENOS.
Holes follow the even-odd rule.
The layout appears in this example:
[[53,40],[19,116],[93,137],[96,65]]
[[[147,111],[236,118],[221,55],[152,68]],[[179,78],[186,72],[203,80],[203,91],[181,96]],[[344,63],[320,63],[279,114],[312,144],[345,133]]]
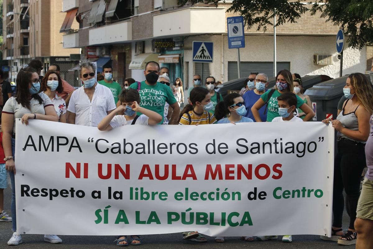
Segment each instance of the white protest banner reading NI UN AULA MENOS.
[[330,236],[334,131],[321,122],[16,121],[21,234]]

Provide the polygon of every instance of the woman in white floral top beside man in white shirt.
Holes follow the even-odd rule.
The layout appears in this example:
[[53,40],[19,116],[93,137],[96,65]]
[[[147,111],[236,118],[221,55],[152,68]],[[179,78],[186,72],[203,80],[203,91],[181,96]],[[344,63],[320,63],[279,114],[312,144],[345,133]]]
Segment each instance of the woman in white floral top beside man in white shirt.
[[52,101],[59,121],[66,123],[66,103],[62,97],[57,95],[57,92],[62,93],[63,91],[60,75],[56,71],[49,70],[43,80],[41,80],[40,90],[43,91]]

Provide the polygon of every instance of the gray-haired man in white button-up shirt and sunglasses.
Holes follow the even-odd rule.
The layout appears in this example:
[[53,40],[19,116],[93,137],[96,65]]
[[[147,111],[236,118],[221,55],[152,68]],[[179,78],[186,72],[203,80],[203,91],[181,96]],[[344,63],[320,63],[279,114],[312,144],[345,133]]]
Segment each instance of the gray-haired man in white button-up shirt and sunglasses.
[[95,80],[95,65],[89,60],[79,63],[82,87],[74,91],[68,107],[68,123],[94,126],[116,109],[113,93]]

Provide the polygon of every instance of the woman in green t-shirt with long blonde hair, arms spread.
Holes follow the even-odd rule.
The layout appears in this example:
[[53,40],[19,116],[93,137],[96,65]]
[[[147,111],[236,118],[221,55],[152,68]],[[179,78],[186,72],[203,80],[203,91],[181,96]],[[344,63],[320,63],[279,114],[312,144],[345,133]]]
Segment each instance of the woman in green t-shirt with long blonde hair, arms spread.
[[[266,105],[264,114],[267,113],[267,122],[272,122],[272,119],[279,117],[279,109],[277,103],[277,97],[283,93],[292,93],[294,91],[293,78],[291,72],[283,69],[276,75],[276,86],[275,89],[266,91],[266,93],[260,96],[260,99],[253,105],[251,112],[257,122],[263,122],[259,115],[259,109]],[[297,108],[301,109],[305,113],[303,121],[310,120],[315,113],[304,101],[297,95]]]

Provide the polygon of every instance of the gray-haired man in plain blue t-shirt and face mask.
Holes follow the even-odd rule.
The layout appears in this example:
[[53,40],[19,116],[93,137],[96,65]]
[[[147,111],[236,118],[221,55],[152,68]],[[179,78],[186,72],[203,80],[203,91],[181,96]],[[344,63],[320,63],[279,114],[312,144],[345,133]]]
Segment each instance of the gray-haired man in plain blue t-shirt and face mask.
[[[245,117],[251,118],[255,122],[255,118],[253,116],[253,113],[251,112],[251,107],[253,107],[253,105],[255,104],[255,102],[257,102],[260,96],[266,92],[266,89],[268,87],[267,75],[263,73],[257,74],[254,80],[254,86],[255,88],[253,90],[247,91],[242,97],[244,98],[245,107],[247,110]],[[263,118],[262,120],[267,120],[267,112],[264,113],[265,109],[265,105],[259,109],[260,118]]]

